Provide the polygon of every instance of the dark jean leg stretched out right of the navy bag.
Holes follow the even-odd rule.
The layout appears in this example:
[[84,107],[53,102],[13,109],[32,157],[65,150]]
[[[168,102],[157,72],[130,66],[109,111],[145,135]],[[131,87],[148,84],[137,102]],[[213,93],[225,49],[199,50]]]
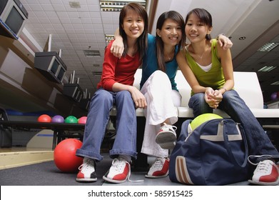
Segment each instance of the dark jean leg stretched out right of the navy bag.
[[[279,158],[277,149],[271,143],[263,127],[260,126],[258,120],[236,91],[226,91],[219,108],[223,109],[234,121],[243,125],[250,155],[271,155],[274,158]],[[261,159],[265,158],[262,157]],[[261,159],[258,159],[258,161]]]

